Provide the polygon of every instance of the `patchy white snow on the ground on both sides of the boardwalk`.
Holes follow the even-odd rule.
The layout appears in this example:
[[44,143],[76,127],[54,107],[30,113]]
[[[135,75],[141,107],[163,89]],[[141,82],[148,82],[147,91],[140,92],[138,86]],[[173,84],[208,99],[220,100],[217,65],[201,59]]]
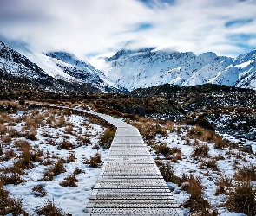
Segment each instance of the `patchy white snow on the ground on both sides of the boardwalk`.
[[[71,154],[76,157],[75,162],[65,162],[64,168],[66,172],[56,175],[52,181],[43,181],[43,172],[49,168],[51,165],[43,164],[43,162],[34,162],[35,168],[26,169],[26,174],[21,175],[26,181],[16,186],[9,184],[4,186],[5,190],[10,192],[10,197],[23,200],[23,209],[30,215],[35,215],[36,207],[43,206],[48,200],[54,200],[56,206],[62,209],[63,212],[72,215],[82,215],[86,209],[86,205],[89,201],[90,194],[92,192],[92,187],[95,185],[95,181],[100,172],[100,168],[90,168],[89,165],[83,164],[86,158],[89,156],[94,156],[95,153],[99,152],[102,156],[102,162],[104,162],[105,157],[108,154],[108,149],[94,149],[95,143],[99,141],[99,137],[106,130],[102,128],[99,124],[93,124],[89,121],[89,118],[77,116],[77,115],[65,115],[62,116],[62,111],[49,112],[49,110],[39,110],[39,113],[34,113],[33,111],[18,111],[17,114],[10,114],[14,119],[20,119],[20,121],[14,121],[16,124],[4,123],[4,125],[10,129],[14,129],[18,132],[33,132],[36,130],[37,141],[31,141],[26,139],[32,149],[40,149],[43,151],[43,162],[54,161],[56,162],[60,158],[67,159]],[[26,127],[26,124],[31,124],[28,118],[37,118],[38,115],[43,115],[42,123],[30,126],[30,129]],[[54,116],[54,118],[53,118]],[[28,117],[28,118],[25,118]],[[65,118],[64,126],[56,126],[60,118]],[[52,119],[50,122],[49,119]],[[56,120],[54,120],[56,119]],[[39,121],[39,120],[37,120]],[[40,122],[40,121],[39,121]],[[32,124],[31,124],[32,125]],[[34,127],[34,128],[33,128]],[[72,130],[70,131],[70,127]],[[160,124],[160,127],[164,127]],[[201,179],[201,184],[203,189],[203,198],[208,200],[213,209],[217,209],[221,216],[241,216],[245,215],[243,213],[230,213],[226,207],[223,207],[226,202],[228,195],[219,194],[215,195],[217,185],[216,183],[220,178],[230,178],[233,179],[233,174],[242,168],[243,166],[250,166],[256,164],[256,156],[249,153],[240,152],[239,149],[232,149],[226,147],[225,149],[214,148],[214,143],[200,141],[199,144],[207,144],[208,156],[207,157],[194,157],[192,153],[194,151],[194,141],[193,137],[189,137],[188,131],[192,129],[192,126],[187,125],[175,125],[174,130],[167,130],[167,135],[163,136],[157,134],[154,137],[154,142],[157,144],[167,143],[169,148],[181,149],[181,160],[177,162],[171,162],[174,167],[175,175],[182,177],[182,175],[194,175]],[[91,144],[85,144],[82,138],[89,138]],[[12,166],[14,162],[18,160],[18,156],[21,151],[16,149],[16,139],[25,140],[24,137],[13,137],[9,144],[4,144],[3,140],[0,141],[3,144],[3,152],[7,152],[10,149],[14,149],[16,152],[16,157],[11,158],[8,161],[0,160],[0,168],[7,168]],[[58,149],[58,144],[62,143],[63,140],[69,141],[69,143],[74,144],[74,148],[71,150]],[[50,140],[54,140],[56,144],[50,144]],[[148,146],[154,159],[161,159],[161,162],[167,159],[163,155],[157,156],[154,149]],[[4,154],[0,156],[3,158]],[[157,158],[158,157],[158,158]],[[217,170],[207,168],[202,163],[208,160],[216,160],[218,167]],[[234,168],[236,167],[236,168]],[[75,168],[82,170],[82,173],[75,175],[77,182],[77,187],[62,187],[60,183],[64,181],[64,178],[72,175]],[[235,183],[234,180],[232,180]],[[253,182],[256,186],[256,182]],[[32,189],[38,185],[43,186],[43,191],[46,194],[38,194]],[[184,203],[190,196],[187,191],[181,190],[177,184],[167,182],[167,185],[174,189],[174,199],[179,205]],[[228,188],[225,188],[228,191]],[[220,207],[221,206],[221,207]],[[181,212],[184,216],[189,214],[189,209],[181,208]]]

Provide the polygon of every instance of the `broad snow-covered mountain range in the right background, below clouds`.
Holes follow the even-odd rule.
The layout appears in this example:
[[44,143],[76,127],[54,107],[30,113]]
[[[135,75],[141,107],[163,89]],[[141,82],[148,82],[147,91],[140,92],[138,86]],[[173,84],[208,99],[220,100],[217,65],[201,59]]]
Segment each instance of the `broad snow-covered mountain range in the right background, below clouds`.
[[169,83],[194,86],[204,83],[256,89],[256,50],[236,59],[214,53],[195,55],[161,51],[156,48],[130,49],[128,42],[110,58],[105,58],[106,76],[129,91],[138,87]]

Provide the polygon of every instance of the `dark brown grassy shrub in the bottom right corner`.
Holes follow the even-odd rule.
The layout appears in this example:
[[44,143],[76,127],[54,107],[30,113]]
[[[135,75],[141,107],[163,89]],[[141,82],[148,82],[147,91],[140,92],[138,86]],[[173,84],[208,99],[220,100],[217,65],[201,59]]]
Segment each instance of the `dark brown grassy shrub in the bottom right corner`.
[[226,200],[226,207],[231,212],[255,216],[256,188],[250,182],[239,183]]

